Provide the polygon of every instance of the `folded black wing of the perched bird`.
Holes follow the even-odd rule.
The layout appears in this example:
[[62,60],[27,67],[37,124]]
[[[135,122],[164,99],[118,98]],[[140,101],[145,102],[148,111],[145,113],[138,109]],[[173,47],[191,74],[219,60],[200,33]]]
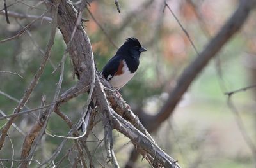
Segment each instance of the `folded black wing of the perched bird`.
[[106,66],[103,67],[102,74],[106,80],[111,80],[111,78],[113,78],[117,73],[121,60],[122,57],[115,55],[108,61]]

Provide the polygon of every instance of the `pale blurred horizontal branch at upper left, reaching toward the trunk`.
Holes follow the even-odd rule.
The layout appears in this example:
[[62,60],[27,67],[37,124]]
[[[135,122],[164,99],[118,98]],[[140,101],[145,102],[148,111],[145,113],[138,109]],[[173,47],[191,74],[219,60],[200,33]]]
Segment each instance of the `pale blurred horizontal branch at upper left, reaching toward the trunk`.
[[[4,11],[0,11],[0,15],[5,15]],[[51,17],[40,17],[38,15],[29,15],[26,13],[17,13],[15,11],[8,11],[8,16],[9,17],[13,17],[13,18],[20,18],[20,19],[24,19],[24,18],[29,18],[29,19],[36,19],[36,18],[40,18],[42,20],[48,21],[48,22],[52,22],[52,18]]]

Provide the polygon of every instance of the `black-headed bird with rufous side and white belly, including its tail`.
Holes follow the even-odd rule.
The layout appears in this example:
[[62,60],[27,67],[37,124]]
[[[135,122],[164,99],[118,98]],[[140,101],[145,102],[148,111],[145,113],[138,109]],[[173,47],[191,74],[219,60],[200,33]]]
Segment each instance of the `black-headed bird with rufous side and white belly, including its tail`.
[[[116,54],[107,62],[106,66],[102,69],[102,76],[111,84],[115,90],[120,90],[127,84],[140,65],[141,52],[145,52],[143,46],[137,38],[127,38]],[[79,124],[77,130],[86,133],[86,127],[89,123],[90,114],[95,104],[91,101],[88,105],[88,110],[83,116],[83,122]]]

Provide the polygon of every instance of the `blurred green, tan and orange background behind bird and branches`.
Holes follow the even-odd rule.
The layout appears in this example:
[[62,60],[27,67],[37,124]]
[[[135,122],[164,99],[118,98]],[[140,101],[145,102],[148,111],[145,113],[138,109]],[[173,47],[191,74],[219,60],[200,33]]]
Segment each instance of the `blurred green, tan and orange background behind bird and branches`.
[[[74,6],[79,1],[72,1]],[[147,48],[141,54],[140,67],[136,76],[120,93],[135,112],[148,114],[159,112],[168,98],[168,92],[175,86],[180,73],[195,59],[196,52],[189,39],[180,28],[170,10],[164,11],[164,1],[119,1],[121,13],[118,13],[114,1],[92,1],[89,11],[84,11],[84,29],[90,37],[97,69],[102,70],[106,62],[115,55],[116,47],[125,39],[133,36]],[[238,1],[234,0],[181,0],[167,1],[173,13],[188,32],[198,52],[211,40],[227,19],[236,10]],[[46,10],[42,1],[7,1],[9,11],[40,16]],[[0,4],[0,40],[15,36],[22,27],[31,22],[31,18],[10,18],[10,24],[4,17],[3,3]],[[51,17],[49,13],[47,16]],[[182,167],[255,167],[255,151],[248,146],[243,134],[250,137],[256,145],[256,104],[255,89],[232,95],[237,111],[228,107],[225,92],[256,84],[256,13],[244,24],[243,29],[225,45],[218,55],[205,67],[200,76],[193,81],[179,106],[173,111],[152,135],[157,144],[171,157],[179,160]],[[51,24],[47,20],[38,20],[20,38],[0,43],[0,71],[12,71],[17,75],[0,73],[0,109],[5,115],[13,113],[17,101],[22,98],[42,60],[42,51],[49,40]],[[54,71],[65,52],[60,31],[56,33],[48,62],[26,108],[40,106],[42,95],[47,103],[52,101],[60,72]],[[70,60],[66,60],[65,76],[61,91],[72,87],[77,81]],[[81,116],[87,95],[80,95],[61,106],[63,113],[75,123]],[[237,113],[238,112],[238,115]],[[3,115],[1,113],[1,115]],[[36,115],[38,113],[35,113]],[[35,123],[31,115],[19,116],[9,131],[9,137],[0,159],[19,160],[20,147],[24,136]],[[243,131],[241,132],[241,122]],[[6,120],[0,120],[0,127]],[[240,126],[239,126],[240,124]],[[49,134],[67,136],[68,126],[61,118],[52,113],[47,125]],[[22,133],[23,132],[23,133]],[[111,167],[106,164],[104,150],[104,131],[101,123],[92,130],[88,146],[93,153],[97,167]],[[115,153],[120,167],[128,162],[132,143],[124,135],[113,130]],[[247,139],[248,140],[248,139]],[[62,139],[45,135],[34,159],[43,162],[49,158]],[[67,141],[58,162],[72,147],[73,141]],[[13,148],[12,148],[13,146]],[[72,158],[72,152],[68,154]],[[1,161],[2,167],[10,167],[11,162]],[[31,167],[37,164],[32,162]],[[67,158],[60,167],[70,167]],[[134,167],[150,167],[147,161],[138,159]]]

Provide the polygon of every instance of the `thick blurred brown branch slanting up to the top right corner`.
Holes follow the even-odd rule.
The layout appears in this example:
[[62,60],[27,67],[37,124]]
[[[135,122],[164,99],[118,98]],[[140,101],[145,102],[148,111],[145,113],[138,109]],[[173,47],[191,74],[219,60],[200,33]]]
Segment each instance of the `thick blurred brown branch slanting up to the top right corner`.
[[170,91],[168,100],[164,104],[163,108],[161,108],[156,116],[152,117],[152,120],[145,121],[147,123],[146,128],[150,132],[156,130],[159,125],[173,113],[173,110],[182,98],[182,95],[188,90],[196,76],[200,74],[202,69],[207,66],[209,60],[211,60],[216,53],[221,50],[225,43],[227,43],[227,41],[232,38],[239,29],[241,29],[253,8],[255,8],[255,2],[253,0],[241,1],[232,17],[230,17],[225,25],[223,25],[216,36],[209,41],[208,45],[205,46],[204,50],[198,55],[198,57],[196,57],[196,59],[191,62],[186,69],[184,69],[177,81],[177,85],[172,91]]

